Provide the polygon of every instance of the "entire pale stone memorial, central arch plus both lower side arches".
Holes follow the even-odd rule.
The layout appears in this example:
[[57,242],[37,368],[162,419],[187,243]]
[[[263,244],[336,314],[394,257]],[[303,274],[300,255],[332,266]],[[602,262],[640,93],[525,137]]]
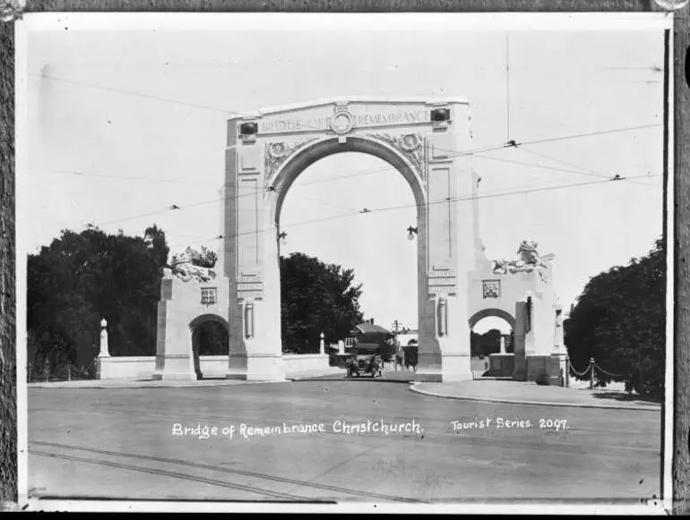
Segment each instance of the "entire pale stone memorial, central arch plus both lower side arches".
[[[516,291],[528,286],[537,291],[539,330],[555,316],[552,298],[542,297],[550,268],[530,264],[529,275],[516,277],[512,271],[501,274],[500,270],[513,269],[514,262],[506,260],[496,270],[484,256],[477,200],[463,201],[475,195],[479,186],[468,153],[471,132],[466,100],[316,101],[238,115],[229,119],[227,132],[219,268],[196,268],[184,259],[176,268],[181,276],[168,272],[162,280],[154,379],[195,379],[187,325],[209,315],[228,323],[227,378],[285,379],[280,337],[280,210],[291,184],[307,166],[343,152],[383,159],[401,173],[414,195],[418,380],[472,379],[470,320],[487,308],[498,309],[515,316],[521,334],[524,319],[517,313],[523,295]],[[191,278],[197,283],[187,283]],[[496,297],[501,284],[504,294]],[[529,300],[526,309],[531,316],[537,307]],[[521,359],[525,351],[530,353],[534,337],[529,327],[525,334],[522,343],[527,348],[520,352]],[[548,347],[550,352],[553,337],[544,348],[531,351],[541,354]],[[524,362],[518,364],[522,378],[528,371]]]

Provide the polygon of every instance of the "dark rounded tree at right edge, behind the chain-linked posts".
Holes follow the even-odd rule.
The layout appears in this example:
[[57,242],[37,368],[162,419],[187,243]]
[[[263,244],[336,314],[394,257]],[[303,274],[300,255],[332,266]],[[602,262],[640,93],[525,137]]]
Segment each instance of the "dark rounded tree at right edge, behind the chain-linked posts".
[[[601,384],[662,396],[666,350],[666,252],[662,239],[641,259],[592,277],[564,322],[576,371],[591,357]],[[605,371],[608,371],[607,374]],[[616,374],[611,376],[610,374]]]

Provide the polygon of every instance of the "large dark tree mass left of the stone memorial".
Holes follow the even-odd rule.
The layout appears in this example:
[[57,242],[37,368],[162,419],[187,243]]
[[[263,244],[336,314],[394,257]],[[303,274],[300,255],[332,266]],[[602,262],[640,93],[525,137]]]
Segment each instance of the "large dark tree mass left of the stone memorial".
[[28,259],[27,328],[34,361],[91,364],[100,320],[108,320],[111,354],[156,350],[160,277],[168,246],[157,227],[143,237],[64,230]]

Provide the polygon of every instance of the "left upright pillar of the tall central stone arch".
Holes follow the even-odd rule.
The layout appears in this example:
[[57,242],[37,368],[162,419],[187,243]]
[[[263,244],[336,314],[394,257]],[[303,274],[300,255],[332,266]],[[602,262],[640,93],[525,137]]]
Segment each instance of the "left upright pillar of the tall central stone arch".
[[275,191],[264,185],[260,119],[228,121],[223,235],[233,350],[226,377],[283,381],[278,231],[270,217]]

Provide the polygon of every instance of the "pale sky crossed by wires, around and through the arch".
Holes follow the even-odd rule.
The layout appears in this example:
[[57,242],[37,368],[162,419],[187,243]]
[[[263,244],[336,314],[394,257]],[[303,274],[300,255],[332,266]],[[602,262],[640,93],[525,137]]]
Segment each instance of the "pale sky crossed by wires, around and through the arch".
[[[217,248],[230,115],[315,98],[460,96],[473,148],[492,148],[472,156],[487,257],[537,241],[556,255],[569,309],[590,277],[661,234],[661,31],[439,30],[424,20],[416,30],[30,30],[27,250],[90,223],[126,234],[155,223],[173,250]],[[520,146],[503,147],[510,140]],[[377,211],[394,206],[408,207]],[[290,188],[281,253],[354,269],[366,318],[415,328],[410,225],[402,176],[381,159],[339,154]]]

